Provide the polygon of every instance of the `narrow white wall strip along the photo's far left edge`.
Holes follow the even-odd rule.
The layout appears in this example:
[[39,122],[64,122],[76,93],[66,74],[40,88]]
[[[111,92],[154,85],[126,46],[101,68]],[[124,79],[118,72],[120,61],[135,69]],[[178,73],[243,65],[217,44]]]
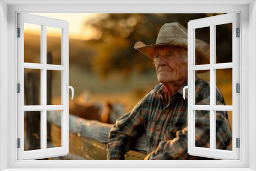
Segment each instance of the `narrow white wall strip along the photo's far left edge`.
[[8,6],[0,1],[0,170],[7,168],[7,26]]

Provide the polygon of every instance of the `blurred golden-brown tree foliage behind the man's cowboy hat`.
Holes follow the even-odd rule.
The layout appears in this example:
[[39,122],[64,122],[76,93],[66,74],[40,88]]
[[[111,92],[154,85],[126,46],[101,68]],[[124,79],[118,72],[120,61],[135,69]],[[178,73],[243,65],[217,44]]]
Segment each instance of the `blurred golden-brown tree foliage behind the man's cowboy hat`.
[[[99,46],[92,59],[93,68],[103,78],[111,72],[129,76],[134,70],[138,73],[155,71],[153,60],[134,49],[135,42],[155,44],[165,23],[178,22],[187,28],[189,20],[213,15],[218,14],[98,14],[86,23],[98,33],[95,39]],[[202,29],[196,37],[209,42],[209,30]]]

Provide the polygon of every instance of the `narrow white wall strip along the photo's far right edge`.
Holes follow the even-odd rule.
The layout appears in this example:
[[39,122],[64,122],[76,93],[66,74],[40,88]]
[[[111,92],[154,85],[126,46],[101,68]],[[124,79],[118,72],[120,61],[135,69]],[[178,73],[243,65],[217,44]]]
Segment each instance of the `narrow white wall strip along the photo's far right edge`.
[[255,12],[256,4],[255,2],[249,5],[249,37],[253,37],[249,39],[249,112],[252,115],[249,115],[249,125],[251,126],[251,130],[249,130],[249,142],[251,142],[249,146],[249,168],[256,170],[256,49],[254,46],[256,41],[256,12]]

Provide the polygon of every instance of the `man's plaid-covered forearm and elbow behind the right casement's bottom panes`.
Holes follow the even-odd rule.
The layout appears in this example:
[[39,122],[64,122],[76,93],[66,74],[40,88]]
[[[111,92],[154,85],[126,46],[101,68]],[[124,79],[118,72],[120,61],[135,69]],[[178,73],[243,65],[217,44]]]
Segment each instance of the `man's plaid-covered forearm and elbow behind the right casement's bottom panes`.
[[[216,113],[217,123],[219,124],[216,135],[216,148],[225,149],[231,140],[231,131],[229,123],[221,113]],[[196,146],[209,148],[209,119],[197,119],[196,123]],[[225,130],[225,131],[224,131]],[[173,140],[161,141],[157,149],[148,154],[145,159],[165,160],[165,159],[193,159],[187,153],[187,127],[177,132],[177,137]]]

